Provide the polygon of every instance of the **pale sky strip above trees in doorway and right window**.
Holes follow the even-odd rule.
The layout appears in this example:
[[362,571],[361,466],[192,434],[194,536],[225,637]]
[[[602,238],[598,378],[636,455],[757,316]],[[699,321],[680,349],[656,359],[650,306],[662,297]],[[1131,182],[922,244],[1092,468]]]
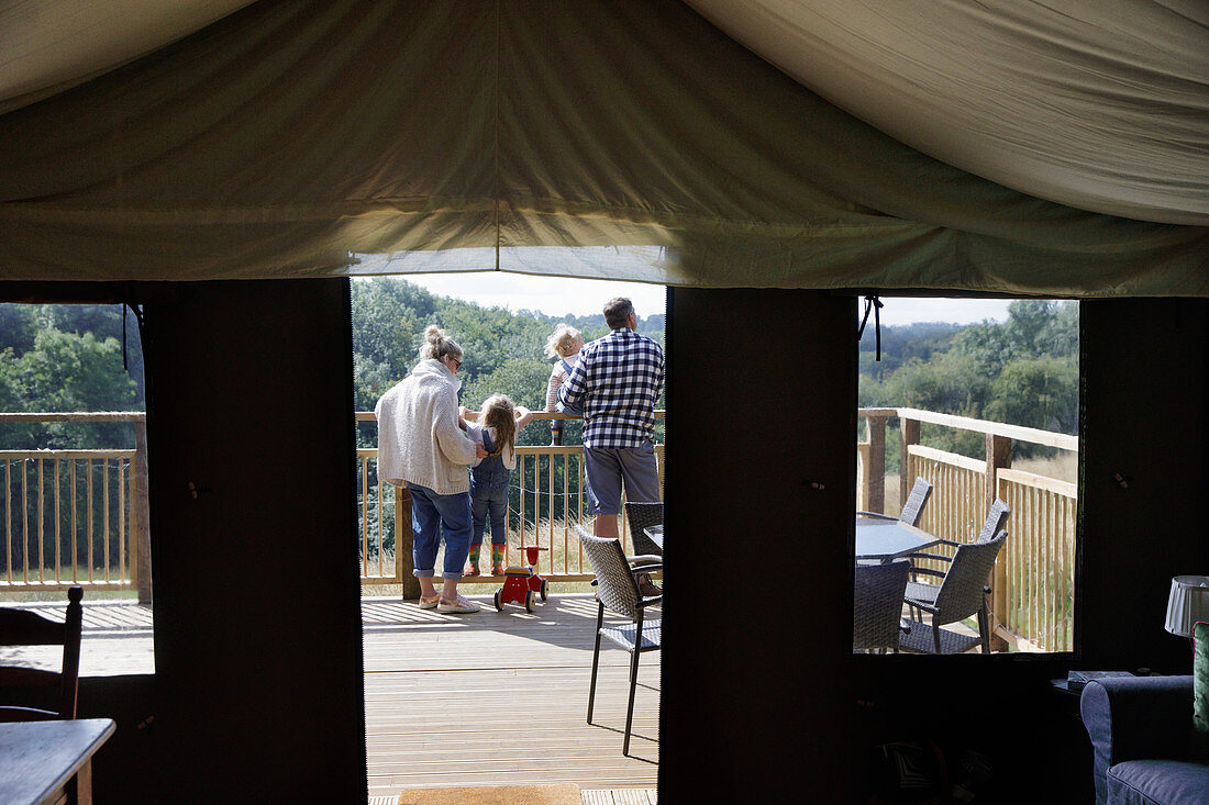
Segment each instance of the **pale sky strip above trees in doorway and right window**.
[[[600,313],[614,296],[634,301],[638,315],[646,318],[665,311],[663,285],[619,283],[604,279],[568,279],[531,277],[502,272],[401,274],[399,279],[421,285],[438,296],[452,296],[484,307],[504,307],[513,313],[528,309],[548,315]],[[913,322],[955,322],[972,324],[983,319],[1007,319],[1010,300],[907,299],[883,296],[883,324]],[[861,300],[857,314],[864,312]],[[872,322],[872,317],[870,317]]]

